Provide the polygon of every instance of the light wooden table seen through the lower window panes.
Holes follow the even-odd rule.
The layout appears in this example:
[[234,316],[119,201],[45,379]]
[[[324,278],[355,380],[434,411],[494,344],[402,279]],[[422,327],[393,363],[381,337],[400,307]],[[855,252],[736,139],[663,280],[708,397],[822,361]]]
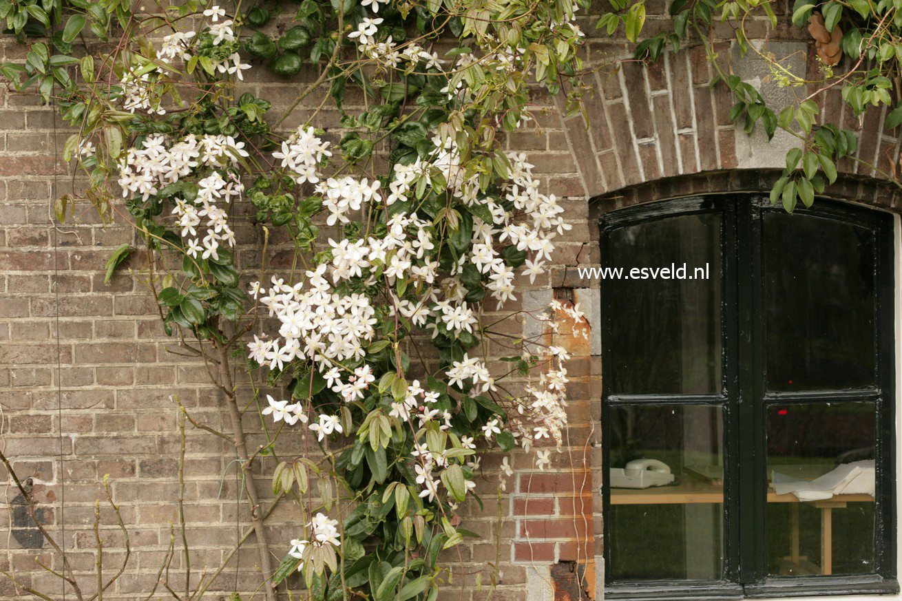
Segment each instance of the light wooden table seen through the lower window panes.
[[[612,488],[612,505],[659,505],[723,503],[723,486],[713,485],[692,476],[678,476],[678,485],[652,486],[650,488]],[[799,501],[796,495],[778,495],[768,487],[768,503],[792,503],[792,542],[789,555],[782,559],[787,568],[796,574],[833,573],[833,509],[849,503],[873,503],[871,495],[834,495],[824,501]],[[808,504],[821,510],[821,566],[815,566],[799,554],[798,506]]]

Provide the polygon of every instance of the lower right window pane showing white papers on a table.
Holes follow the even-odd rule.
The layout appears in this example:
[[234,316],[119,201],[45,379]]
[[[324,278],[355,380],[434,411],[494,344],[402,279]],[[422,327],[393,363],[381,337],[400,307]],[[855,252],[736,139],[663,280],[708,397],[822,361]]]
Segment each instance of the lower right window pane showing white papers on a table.
[[771,575],[874,571],[874,404],[768,408]]

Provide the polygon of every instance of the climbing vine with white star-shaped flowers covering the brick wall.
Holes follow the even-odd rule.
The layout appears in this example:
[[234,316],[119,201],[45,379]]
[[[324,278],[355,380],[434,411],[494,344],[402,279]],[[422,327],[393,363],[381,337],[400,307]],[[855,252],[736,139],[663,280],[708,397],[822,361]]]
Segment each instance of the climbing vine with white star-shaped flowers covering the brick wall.
[[[435,599],[453,576],[439,553],[474,536],[457,510],[481,503],[481,454],[538,446],[542,469],[560,448],[568,356],[553,316],[582,314],[529,314],[546,328],[532,339],[481,317],[517,301],[515,279],[545,273],[570,229],[527,157],[497,140],[529,122],[530,86],[566,87],[578,110],[578,8],[0,0],[27,46],[0,73],[77,130],[62,153],[87,189],[57,200],[58,219],[88,199],[133,225],[147,261],[134,273],[166,333],[226,397],[231,432],[182,411],[235,444],[268,598],[299,571],[317,599]],[[275,114],[243,88],[256,69],[313,81]],[[352,93],[363,111],[346,110]],[[327,103],[340,138],[319,126]],[[315,108],[301,121],[299,106]],[[275,240],[290,249],[278,269]],[[113,254],[107,279],[131,253]],[[509,349],[501,372],[483,359],[490,341]],[[261,448],[246,442],[246,411],[260,415]],[[304,452],[280,457],[281,437]],[[299,507],[280,541],[262,527],[262,457],[275,460],[275,502]]]

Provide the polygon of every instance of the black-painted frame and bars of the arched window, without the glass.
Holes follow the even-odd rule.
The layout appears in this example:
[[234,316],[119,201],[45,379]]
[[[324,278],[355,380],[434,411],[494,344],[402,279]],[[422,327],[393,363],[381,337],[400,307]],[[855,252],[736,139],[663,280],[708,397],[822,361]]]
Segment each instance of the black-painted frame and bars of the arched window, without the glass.
[[[766,389],[766,332],[762,222],[774,208],[760,194],[730,193],[661,200],[605,213],[599,219],[602,267],[609,263],[610,233],[619,227],[667,217],[706,212],[721,215],[722,273],[722,389],[714,394],[615,394],[611,365],[611,298],[601,285],[602,303],[602,429],[603,515],[610,515],[609,409],[639,403],[704,404],[722,407],[725,465],[723,501],[723,580],[651,580],[611,582],[605,570],[605,596],[611,599],[736,599],[768,596],[812,596],[898,593],[895,421],[895,264],[893,216],[828,199],[813,208],[796,208],[801,217],[851,222],[874,233],[876,290],[874,322],[875,382],[864,389],[768,392]],[[712,273],[711,277],[715,277]],[[769,402],[824,399],[875,403],[875,573],[842,576],[767,575],[767,467],[765,411]],[[751,424],[751,427],[749,425]],[[741,503],[744,499],[746,502]],[[749,501],[750,500],[750,501]],[[608,559],[611,523],[604,521],[604,557]]]

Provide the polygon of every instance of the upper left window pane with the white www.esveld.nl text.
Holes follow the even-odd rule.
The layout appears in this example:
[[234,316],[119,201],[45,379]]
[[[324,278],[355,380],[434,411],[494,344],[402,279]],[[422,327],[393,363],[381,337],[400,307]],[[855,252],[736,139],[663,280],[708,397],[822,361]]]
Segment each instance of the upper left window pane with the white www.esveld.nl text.
[[[607,264],[624,273],[602,286],[610,295],[612,392],[720,392],[720,215],[621,227],[609,241]],[[645,279],[635,271],[639,278],[628,278],[633,269],[647,269]]]

